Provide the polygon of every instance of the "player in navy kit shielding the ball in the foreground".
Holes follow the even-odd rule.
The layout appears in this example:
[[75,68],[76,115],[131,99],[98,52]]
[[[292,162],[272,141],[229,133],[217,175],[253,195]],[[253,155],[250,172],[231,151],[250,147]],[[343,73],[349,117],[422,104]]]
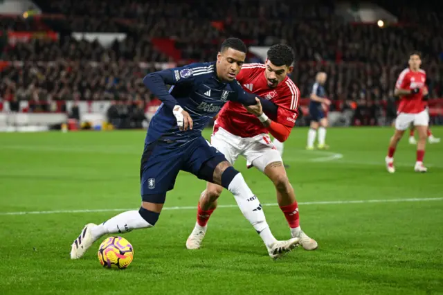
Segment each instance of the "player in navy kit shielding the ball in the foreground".
[[[298,238],[278,241],[273,237],[262,206],[243,176],[201,136],[201,131],[227,100],[256,104],[255,96],[246,93],[235,80],[245,58],[246,46],[242,40],[228,38],[221,44],[216,62],[190,64],[145,76],[143,82],[163,104],[152,118],[145,138],[140,171],[141,207],[102,224],[84,226],[71,246],[71,259],[81,258],[93,242],[107,233],[153,227],[180,170],[229,190],[244,217],[259,233],[271,258],[279,258],[298,246]],[[172,85],[170,91],[165,84]],[[276,105],[260,100],[265,112],[276,114]]]

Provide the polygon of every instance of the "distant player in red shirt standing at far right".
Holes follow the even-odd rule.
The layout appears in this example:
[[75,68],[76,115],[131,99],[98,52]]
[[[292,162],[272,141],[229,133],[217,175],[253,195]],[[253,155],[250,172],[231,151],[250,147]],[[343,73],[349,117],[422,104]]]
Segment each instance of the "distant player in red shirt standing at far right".
[[426,111],[426,102],[423,96],[427,94],[426,73],[420,69],[422,60],[420,53],[413,52],[409,55],[409,67],[404,69],[395,84],[395,95],[400,96],[400,104],[395,119],[395,133],[390,138],[388,155],[386,156],[386,169],[395,172],[394,153],[401,137],[411,123],[417,129],[419,140],[417,143],[417,160],[415,172],[426,172],[423,165],[424,148],[426,146],[426,133],[428,131],[429,114]]

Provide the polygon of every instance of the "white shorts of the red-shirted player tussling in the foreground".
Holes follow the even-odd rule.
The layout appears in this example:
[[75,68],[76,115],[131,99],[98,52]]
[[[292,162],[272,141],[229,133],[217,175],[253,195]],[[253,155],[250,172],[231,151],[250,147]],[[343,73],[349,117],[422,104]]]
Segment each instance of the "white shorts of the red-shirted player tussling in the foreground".
[[234,165],[240,154],[246,159],[248,168],[254,166],[261,172],[270,163],[283,161],[268,134],[244,138],[218,127],[217,132],[211,135],[210,143],[224,154],[231,165]]

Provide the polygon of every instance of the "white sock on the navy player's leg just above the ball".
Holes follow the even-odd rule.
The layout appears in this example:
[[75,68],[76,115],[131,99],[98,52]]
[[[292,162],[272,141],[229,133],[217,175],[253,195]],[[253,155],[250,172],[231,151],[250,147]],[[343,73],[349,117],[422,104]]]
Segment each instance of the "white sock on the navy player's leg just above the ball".
[[132,210],[120,213],[110,220],[94,226],[91,229],[91,233],[97,240],[107,233],[127,233],[133,229],[145,229],[149,227],[152,227],[152,225],[141,217],[138,210]]

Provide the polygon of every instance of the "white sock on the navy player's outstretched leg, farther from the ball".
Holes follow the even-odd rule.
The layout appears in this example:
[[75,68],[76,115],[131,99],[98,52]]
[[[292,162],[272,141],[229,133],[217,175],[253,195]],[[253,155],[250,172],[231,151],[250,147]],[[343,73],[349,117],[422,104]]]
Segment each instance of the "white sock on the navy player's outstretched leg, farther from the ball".
[[275,240],[271,230],[269,230],[269,225],[264,217],[262,205],[258,198],[252,193],[240,173],[235,175],[233,180],[230,181],[228,190],[234,195],[235,201],[244,217],[251,222],[255,231],[260,233],[260,238],[262,238],[266,247],[270,247],[275,243],[277,240]]

